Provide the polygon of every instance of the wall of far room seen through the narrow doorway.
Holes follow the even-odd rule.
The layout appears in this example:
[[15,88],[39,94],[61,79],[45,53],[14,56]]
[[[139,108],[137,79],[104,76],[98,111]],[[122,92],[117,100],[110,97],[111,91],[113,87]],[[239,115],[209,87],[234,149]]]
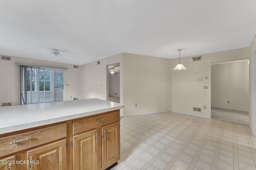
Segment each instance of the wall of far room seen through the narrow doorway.
[[120,73],[108,73],[108,95],[120,97]]

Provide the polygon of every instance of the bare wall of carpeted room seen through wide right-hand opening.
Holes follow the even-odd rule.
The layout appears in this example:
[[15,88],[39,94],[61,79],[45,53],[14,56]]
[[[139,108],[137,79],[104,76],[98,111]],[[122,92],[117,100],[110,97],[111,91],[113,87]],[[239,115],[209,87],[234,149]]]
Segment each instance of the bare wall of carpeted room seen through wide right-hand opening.
[[249,111],[247,61],[212,65],[211,78],[212,107]]

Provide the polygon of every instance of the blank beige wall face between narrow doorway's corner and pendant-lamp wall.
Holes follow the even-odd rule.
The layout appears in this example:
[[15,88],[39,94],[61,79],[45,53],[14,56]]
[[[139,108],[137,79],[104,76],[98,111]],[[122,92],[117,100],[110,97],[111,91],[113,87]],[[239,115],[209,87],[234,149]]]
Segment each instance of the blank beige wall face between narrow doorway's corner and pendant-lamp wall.
[[124,115],[171,111],[170,65],[170,59],[124,53]]

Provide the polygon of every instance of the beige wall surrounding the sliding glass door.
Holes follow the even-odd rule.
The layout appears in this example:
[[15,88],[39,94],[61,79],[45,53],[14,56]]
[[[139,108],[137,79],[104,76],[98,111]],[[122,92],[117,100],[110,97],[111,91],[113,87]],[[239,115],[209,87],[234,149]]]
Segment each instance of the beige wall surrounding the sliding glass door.
[[[51,61],[22,57],[12,57],[11,61],[0,60],[0,103],[12,102],[12,105],[18,104],[18,77],[17,65],[15,63],[54,67],[54,62]],[[65,63],[56,63],[56,67],[68,68],[65,71],[65,80],[69,84],[69,86],[65,87],[66,100],[73,100],[73,97],[80,98],[80,68],[74,69],[73,65]]]

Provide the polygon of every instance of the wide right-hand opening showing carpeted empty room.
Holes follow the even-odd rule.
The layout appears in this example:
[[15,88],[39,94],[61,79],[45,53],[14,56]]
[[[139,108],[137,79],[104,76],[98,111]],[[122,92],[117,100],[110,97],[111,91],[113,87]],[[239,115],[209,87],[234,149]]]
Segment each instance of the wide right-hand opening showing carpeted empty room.
[[212,119],[249,125],[249,60],[211,63]]

